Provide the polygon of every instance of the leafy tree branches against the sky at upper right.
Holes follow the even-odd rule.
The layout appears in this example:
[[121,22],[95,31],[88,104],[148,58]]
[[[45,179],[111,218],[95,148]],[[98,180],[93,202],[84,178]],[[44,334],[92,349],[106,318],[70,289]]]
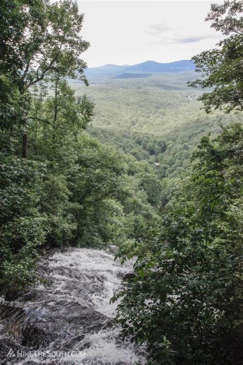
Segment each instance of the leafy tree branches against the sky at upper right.
[[211,27],[226,37],[218,43],[218,48],[192,57],[201,78],[190,82],[189,86],[214,88],[199,97],[207,112],[212,108],[224,108],[226,112],[242,110],[242,2],[225,0],[222,5],[212,4],[206,21],[211,21]]

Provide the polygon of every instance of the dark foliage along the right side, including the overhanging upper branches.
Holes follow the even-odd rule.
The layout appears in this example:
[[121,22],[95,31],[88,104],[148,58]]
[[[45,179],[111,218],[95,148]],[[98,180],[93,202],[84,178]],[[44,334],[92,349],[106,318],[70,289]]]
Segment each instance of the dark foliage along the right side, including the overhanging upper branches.
[[[229,34],[239,27],[240,9],[236,1],[212,5],[208,19]],[[227,10],[230,15],[224,20],[221,15]],[[231,59],[236,60],[231,69],[225,49],[217,52],[216,59],[200,59],[200,69],[212,72],[212,78],[207,85],[196,83],[216,85],[201,97],[207,111],[222,104],[227,112],[242,111],[235,81],[240,79],[240,70],[234,68],[242,62],[242,52],[231,48]],[[228,87],[225,78],[232,72],[236,79],[232,74]],[[224,100],[219,92],[224,93]],[[240,123],[222,126],[214,139],[203,137],[192,155],[188,176],[177,181],[169,199],[162,197],[160,228],[122,259],[137,256],[134,276],[123,281],[112,299],[122,297],[116,319],[124,337],[146,344],[148,363],[242,362],[242,141]]]

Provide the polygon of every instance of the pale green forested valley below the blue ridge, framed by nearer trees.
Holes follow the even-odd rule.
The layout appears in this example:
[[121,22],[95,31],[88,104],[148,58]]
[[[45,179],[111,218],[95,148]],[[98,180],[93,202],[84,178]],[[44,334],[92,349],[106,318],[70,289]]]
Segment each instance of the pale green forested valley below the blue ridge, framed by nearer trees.
[[197,97],[202,91],[187,87],[196,76],[193,71],[155,72],[146,78],[118,79],[108,73],[90,76],[88,88],[73,86],[77,95],[87,93],[95,103],[91,135],[148,161],[160,178],[174,178],[186,169],[202,136],[216,135],[220,123],[239,118],[220,111],[208,115],[200,109]]

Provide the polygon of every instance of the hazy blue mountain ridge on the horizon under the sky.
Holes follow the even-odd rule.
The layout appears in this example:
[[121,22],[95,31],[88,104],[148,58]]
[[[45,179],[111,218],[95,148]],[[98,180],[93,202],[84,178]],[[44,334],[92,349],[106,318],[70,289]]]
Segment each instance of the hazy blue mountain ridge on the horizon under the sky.
[[99,67],[91,67],[86,70],[87,74],[117,74],[122,72],[189,72],[194,71],[195,66],[191,60],[180,60],[168,63],[146,61],[135,65],[113,65],[107,64]]

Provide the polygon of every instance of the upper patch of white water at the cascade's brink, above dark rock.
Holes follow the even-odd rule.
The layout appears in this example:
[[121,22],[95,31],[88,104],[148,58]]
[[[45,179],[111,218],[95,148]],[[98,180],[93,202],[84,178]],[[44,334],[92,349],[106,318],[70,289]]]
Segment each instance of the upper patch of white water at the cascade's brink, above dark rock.
[[[114,290],[118,288],[122,277],[131,271],[131,262],[120,265],[114,256],[97,249],[80,248],[65,253],[56,253],[50,259],[55,280],[55,293],[67,299],[70,296],[69,281],[78,280],[77,289],[83,283],[82,298],[93,305],[94,309],[113,318],[117,303],[110,304]],[[79,273],[78,278],[59,274],[60,267]],[[56,269],[56,270],[55,270]],[[72,293],[75,300],[82,300]]]

